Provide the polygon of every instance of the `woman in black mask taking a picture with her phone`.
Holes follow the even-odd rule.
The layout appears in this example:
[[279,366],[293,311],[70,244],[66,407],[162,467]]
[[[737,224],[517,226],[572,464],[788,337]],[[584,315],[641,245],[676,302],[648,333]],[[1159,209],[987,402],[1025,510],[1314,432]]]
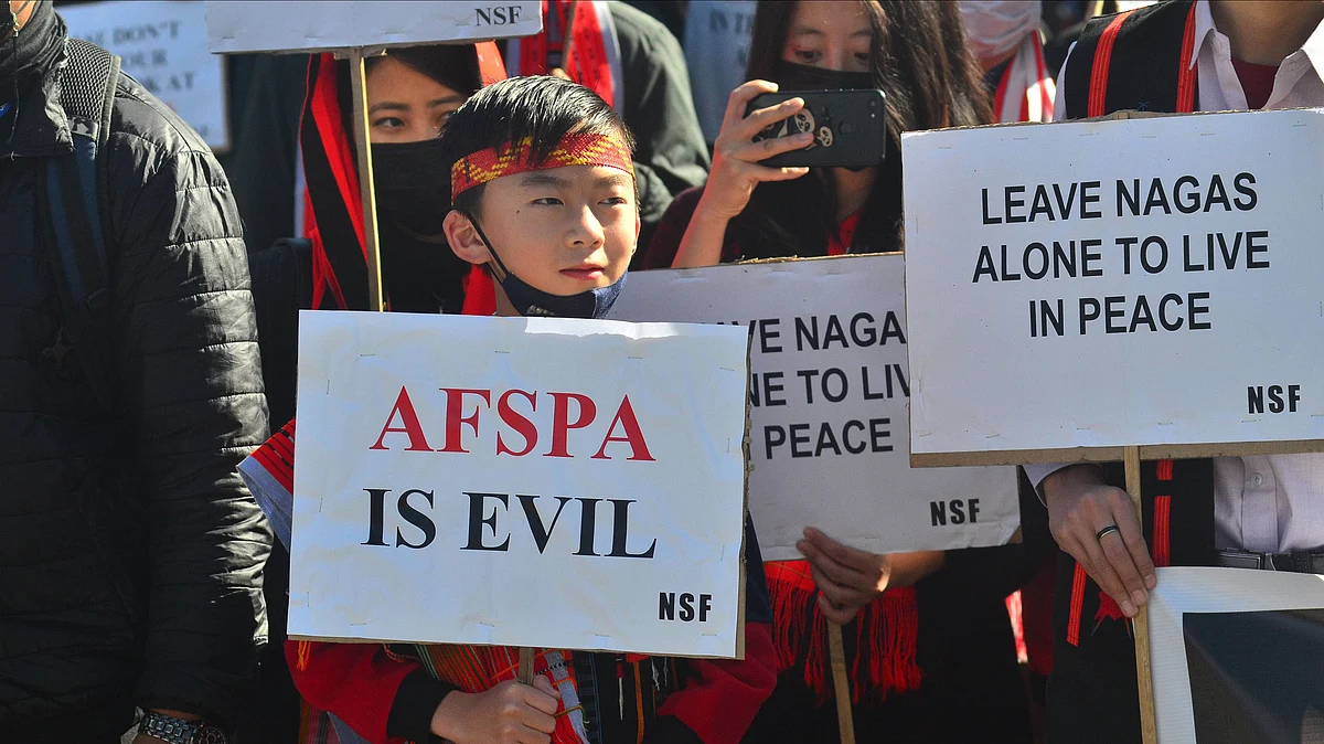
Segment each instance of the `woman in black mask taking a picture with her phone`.
[[[760,1],[747,82],[731,94],[702,189],[677,196],[645,266],[902,249],[899,134],[992,122],[956,4]],[[772,168],[812,135],[755,143],[800,99],[745,115],[776,90],[882,89],[880,165]],[[753,515],[757,519],[757,514]],[[861,741],[1029,741],[1004,605],[1027,576],[1021,548],[875,555],[806,530],[805,561],[765,564],[782,673],[745,741],[837,740],[826,622],[845,625]]]

